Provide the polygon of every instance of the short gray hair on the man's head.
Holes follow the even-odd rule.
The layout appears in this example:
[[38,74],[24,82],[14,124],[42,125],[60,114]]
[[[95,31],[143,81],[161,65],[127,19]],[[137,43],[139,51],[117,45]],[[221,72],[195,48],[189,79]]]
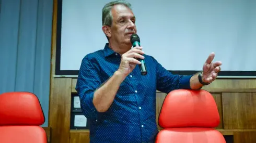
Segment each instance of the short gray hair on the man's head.
[[113,22],[113,16],[111,13],[111,9],[113,8],[114,5],[124,5],[129,7],[131,10],[131,4],[125,1],[113,1],[110,3],[107,3],[103,8],[102,8],[102,26],[103,25],[108,25],[111,27],[112,22]]

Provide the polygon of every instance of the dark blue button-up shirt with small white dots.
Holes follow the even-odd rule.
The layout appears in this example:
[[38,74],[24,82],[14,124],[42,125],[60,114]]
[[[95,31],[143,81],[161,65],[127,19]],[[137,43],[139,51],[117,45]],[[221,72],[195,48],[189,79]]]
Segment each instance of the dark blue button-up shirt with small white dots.
[[86,55],[80,66],[76,90],[81,108],[90,121],[90,142],[154,142],[156,124],[156,90],[190,89],[192,75],[174,75],[152,56],[145,55],[147,75],[139,66],[126,76],[108,111],[97,112],[92,98],[100,85],[118,70],[121,56],[108,47]]

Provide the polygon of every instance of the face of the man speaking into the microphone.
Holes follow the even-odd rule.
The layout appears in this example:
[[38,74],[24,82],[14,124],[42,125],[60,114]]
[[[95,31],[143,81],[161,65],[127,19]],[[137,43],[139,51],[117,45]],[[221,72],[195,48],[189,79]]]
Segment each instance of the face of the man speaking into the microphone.
[[130,37],[137,33],[135,17],[130,8],[115,5],[112,10],[113,21],[111,25],[111,40],[119,44],[131,45]]

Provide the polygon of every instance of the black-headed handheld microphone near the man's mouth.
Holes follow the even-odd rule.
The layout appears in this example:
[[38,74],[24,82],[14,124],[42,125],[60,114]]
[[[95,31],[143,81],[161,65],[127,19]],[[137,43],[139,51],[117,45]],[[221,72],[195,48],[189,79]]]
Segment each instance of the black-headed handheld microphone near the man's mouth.
[[[131,43],[132,43],[133,47],[141,46],[141,40],[139,40],[139,37],[137,34],[131,35]],[[147,70],[146,70],[145,61],[143,59],[138,59],[138,60],[142,63],[142,64],[139,64],[139,68],[141,69],[141,74],[146,75]]]

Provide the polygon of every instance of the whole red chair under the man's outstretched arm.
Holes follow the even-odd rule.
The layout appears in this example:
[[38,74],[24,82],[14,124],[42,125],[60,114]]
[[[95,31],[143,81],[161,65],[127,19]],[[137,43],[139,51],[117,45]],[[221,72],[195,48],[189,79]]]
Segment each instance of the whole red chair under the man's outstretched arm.
[[158,119],[162,129],[157,143],[224,143],[214,127],[219,113],[213,96],[206,90],[178,89],[170,92],[162,104]]

